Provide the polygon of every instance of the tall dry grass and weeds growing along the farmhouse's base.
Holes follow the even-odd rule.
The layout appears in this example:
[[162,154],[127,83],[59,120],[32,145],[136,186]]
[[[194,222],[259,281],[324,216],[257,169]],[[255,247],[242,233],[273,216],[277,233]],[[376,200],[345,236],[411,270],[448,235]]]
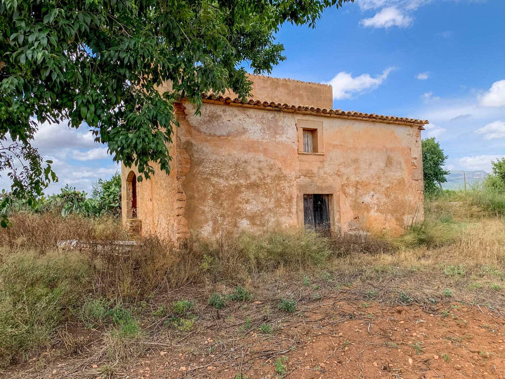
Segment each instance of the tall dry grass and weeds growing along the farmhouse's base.
[[[472,211],[465,213],[468,209]],[[127,238],[115,219],[14,215],[14,226],[0,230],[0,363],[23,362],[58,340],[69,351],[80,351],[80,342],[62,331],[69,321],[102,328],[102,356],[135,357],[145,348],[142,307],[150,309],[148,314],[157,311],[163,304],[154,299],[180,294],[189,284],[196,287],[188,298],[200,298],[201,304],[212,293],[229,294],[237,284],[280,301],[296,294],[294,289],[285,292],[289,283],[300,286],[307,278],[310,288],[353,289],[397,304],[406,299],[446,301],[443,291],[449,289],[451,299],[488,304],[501,312],[503,221],[478,217],[479,209],[462,202],[428,202],[426,212],[423,222],[400,236],[364,233],[330,239],[279,229],[223,233],[215,239],[193,235],[180,249],[147,237],[128,251],[113,244]],[[56,249],[57,241],[72,239],[102,245]],[[284,283],[282,294],[279,283]],[[271,313],[265,310],[265,315]]]

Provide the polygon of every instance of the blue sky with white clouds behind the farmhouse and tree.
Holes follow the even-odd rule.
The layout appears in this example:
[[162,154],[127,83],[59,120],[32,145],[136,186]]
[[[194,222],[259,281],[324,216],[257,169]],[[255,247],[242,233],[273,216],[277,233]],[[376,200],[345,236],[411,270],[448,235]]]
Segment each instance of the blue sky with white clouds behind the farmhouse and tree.
[[[448,168],[489,171],[505,155],[504,19],[504,0],[355,0],[316,29],[284,25],[272,76],[331,83],[334,108],[428,119]],[[60,177],[46,193],[118,169],[85,127],[41,125],[34,145]]]

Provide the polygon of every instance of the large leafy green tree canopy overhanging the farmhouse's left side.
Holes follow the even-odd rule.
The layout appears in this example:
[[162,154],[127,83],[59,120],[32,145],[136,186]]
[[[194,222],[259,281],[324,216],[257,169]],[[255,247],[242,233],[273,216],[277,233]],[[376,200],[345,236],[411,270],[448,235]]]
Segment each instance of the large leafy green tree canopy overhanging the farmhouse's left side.
[[114,161],[146,178],[153,163],[168,173],[180,98],[197,113],[204,92],[245,98],[244,66],[270,73],[285,59],[274,37],[282,24],[315,27],[348,1],[0,1],[0,154],[9,136],[31,156],[12,193],[41,195],[56,180],[31,148],[38,122],[87,125]]

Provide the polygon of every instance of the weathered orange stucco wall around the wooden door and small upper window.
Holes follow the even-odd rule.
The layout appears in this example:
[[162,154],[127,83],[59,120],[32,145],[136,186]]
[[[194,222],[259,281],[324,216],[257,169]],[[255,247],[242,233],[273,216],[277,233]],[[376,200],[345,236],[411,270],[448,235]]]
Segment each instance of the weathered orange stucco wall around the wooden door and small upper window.
[[[218,104],[195,116],[184,106],[178,135],[191,157],[182,184],[189,229],[303,226],[304,193],[331,194],[334,231],[398,231],[422,214],[417,126]],[[322,154],[298,154],[304,120],[322,123]]]

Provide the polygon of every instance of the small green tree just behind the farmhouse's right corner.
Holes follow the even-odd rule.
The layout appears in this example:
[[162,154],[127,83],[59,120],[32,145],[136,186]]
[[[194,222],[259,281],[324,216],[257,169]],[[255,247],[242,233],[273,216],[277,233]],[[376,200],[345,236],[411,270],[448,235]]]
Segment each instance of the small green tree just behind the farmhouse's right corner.
[[447,156],[443,154],[435,137],[423,139],[422,149],[424,191],[427,194],[433,194],[441,189],[441,183],[447,181],[445,175],[449,171],[443,169]]

